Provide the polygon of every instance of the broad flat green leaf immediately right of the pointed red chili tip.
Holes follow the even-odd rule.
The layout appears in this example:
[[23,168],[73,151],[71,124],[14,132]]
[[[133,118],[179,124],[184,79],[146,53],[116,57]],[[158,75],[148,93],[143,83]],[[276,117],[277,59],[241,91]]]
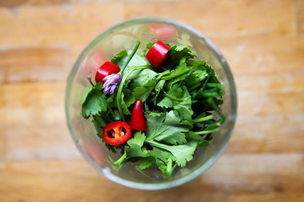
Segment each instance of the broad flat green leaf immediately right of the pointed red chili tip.
[[181,122],[175,117],[173,111],[167,112],[165,116],[153,117],[146,114],[147,119],[147,140],[164,141],[169,144],[182,144],[186,142],[183,132],[189,131],[189,125]]

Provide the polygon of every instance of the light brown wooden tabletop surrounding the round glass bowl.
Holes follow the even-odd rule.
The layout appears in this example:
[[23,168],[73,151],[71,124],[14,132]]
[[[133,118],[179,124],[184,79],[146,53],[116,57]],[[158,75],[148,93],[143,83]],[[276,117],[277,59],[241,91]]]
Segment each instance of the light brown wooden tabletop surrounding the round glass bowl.
[[[0,0],[0,201],[304,201],[304,1]],[[69,135],[67,74],[100,31],[168,17],[229,62],[238,120],[224,154],[182,186],[107,180]]]

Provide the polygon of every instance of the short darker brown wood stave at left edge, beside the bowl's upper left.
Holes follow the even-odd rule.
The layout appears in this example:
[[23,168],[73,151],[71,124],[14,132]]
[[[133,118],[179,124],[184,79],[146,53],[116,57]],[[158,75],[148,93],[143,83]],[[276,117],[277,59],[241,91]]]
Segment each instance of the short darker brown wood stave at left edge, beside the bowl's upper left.
[[0,83],[64,80],[70,67],[66,45],[0,49]]

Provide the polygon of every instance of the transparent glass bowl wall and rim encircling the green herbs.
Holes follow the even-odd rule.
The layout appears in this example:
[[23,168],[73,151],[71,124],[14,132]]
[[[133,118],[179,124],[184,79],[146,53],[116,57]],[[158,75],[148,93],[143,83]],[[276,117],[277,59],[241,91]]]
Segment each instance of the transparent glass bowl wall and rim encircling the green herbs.
[[[226,121],[220,131],[213,134],[212,145],[196,151],[194,159],[186,167],[177,169],[172,176],[164,177],[156,167],[137,170],[135,164],[127,164],[119,171],[112,168],[108,155],[118,159],[96,135],[91,120],[81,116],[81,98],[85,87],[90,86],[87,76],[95,75],[105,61],[124,49],[132,49],[141,41],[138,51],[151,41],[163,40],[171,45],[188,46],[198,58],[206,60],[223,84],[225,95],[221,106]],[[94,78],[94,76],[93,76]],[[180,22],[163,18],[143,18],[126,21],[102,32],[91,41],[74,64],[67,82],[65,109],[72,138],[85,159],[100,173],[112,181],[138,189],[163,189],[185,183],[206,171],[222,153],[230,139],[237,110],[234,80],[225,59],[218,48],[205,35]]]

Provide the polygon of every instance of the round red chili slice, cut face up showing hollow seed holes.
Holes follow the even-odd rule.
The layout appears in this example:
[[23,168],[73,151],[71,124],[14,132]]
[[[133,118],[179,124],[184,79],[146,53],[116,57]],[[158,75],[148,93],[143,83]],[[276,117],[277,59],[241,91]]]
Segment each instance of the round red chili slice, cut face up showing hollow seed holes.
[[124,121],[116,121],[104,126],[102,131],[103,140],[113,146],[126,143],[132,135],[130,125]]

